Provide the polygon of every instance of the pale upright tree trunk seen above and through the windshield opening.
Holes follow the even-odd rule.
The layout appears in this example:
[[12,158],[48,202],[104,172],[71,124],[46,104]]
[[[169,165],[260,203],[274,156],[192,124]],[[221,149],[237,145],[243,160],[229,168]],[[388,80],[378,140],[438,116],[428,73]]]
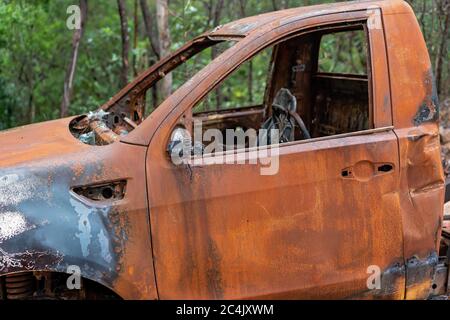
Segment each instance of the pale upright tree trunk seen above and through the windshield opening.
[[[164,58],[170,53],[169,4],[168,0],[156,0],[156,22],[159,31],[159,53]],[[172,91],[172,74],[162,79],[161,95],[167,98]]]

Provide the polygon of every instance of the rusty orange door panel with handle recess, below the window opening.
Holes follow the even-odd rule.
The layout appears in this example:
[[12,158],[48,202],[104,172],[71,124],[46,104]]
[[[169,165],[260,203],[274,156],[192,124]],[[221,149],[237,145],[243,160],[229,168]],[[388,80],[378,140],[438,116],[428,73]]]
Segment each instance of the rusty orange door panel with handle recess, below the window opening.
[[[250,164],[147,168],[160,298],[403,297],[392,132],[283,146],[273,176]],[[369,291],[371,265],[398,268]]]

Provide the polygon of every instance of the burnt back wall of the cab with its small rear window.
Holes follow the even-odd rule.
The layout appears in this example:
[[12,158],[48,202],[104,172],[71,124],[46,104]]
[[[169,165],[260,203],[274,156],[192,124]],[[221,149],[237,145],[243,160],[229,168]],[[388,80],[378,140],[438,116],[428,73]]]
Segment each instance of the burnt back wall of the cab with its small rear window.
[[321,36],[312,77],[314,137],[373,128],[367,52],[363,26]]

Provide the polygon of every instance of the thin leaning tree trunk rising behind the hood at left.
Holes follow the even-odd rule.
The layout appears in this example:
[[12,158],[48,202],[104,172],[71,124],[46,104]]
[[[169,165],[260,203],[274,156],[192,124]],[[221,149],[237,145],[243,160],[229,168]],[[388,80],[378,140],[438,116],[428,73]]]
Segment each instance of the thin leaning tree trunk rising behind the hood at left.
[[80,48],[80,40],[83,36],[84,25],[87,18],[87,0],[80,0],[80,29],[75,29],[72,36],[72,55],[67,65],[66,76],[64,78],[64,93],[60,107],[60,116],[66,117],[69,112],[70,99],[73,93],[73,79],[77,67],[78,52]]

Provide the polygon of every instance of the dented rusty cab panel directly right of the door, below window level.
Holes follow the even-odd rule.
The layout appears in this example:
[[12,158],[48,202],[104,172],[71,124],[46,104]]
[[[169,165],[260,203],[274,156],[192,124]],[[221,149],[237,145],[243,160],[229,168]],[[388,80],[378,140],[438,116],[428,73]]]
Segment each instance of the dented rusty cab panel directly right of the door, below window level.
[[400,142],[401,212],[405,238],[406,299],[426,299],[438,264],[444,178],[436,124],[396,130]]

